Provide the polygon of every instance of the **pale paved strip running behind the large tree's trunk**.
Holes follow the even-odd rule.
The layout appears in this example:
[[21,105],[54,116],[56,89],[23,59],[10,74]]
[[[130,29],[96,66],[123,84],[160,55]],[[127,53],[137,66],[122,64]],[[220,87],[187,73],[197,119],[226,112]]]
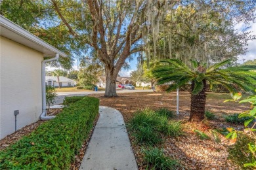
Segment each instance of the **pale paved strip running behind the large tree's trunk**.
[[[117,93],[140,93],[140,92],[152,92],[152,90],[116,90]],[[95,93],[102,93],[104,91],[91,91],[91,92],[57,92],[57,96],[55,98],[55,102],[53,105],[60,105],[66,96],[76,96],[76,95],[89,95]]]

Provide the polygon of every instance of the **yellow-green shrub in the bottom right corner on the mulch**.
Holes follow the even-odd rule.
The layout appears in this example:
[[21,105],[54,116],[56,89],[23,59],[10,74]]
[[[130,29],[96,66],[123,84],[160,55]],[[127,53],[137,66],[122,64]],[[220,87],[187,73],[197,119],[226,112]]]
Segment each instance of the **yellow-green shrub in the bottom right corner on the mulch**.
[[253,158],[253,154],[248,152],[248,143],[253,142],[253,139],[249,137],[238,134],[238,140],[236,144],[229,146],[228,148],[228,159],[232,160],[237,165],[240,165],[242,169],[248,169],[248,167],[244,167],[245,163],[251,162],[251,158]]

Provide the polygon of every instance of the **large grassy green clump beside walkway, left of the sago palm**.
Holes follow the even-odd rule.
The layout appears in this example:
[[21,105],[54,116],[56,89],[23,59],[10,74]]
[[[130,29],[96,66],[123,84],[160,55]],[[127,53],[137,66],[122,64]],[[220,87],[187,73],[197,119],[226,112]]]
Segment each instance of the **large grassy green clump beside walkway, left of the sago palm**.
[[[166,110],[165,110],[166,111]],[[162,115],[161,115],[162,114]],[[160,143],[161,134],[177,137],[183,134],[181,122],[169,121],[169,112],[144,109],[135,113],[128,128],[133,131],[137,143],[154,145]]]

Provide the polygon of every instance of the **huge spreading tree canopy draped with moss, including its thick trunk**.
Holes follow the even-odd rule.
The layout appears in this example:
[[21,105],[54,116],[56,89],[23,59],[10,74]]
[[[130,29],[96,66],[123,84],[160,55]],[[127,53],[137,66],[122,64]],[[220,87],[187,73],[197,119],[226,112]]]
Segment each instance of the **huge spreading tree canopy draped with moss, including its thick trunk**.
[[[251,0],[3,0],[0,13],[70,58],[87,54],[105,69],[105,96],[116,96],[116,76],[138,52],[151,58],[206,62],[246,52],[250,33],[234,30],[255,19]],[[137,55],[144,56],[144,55]],[[58,66],[58,63],[55,63]]]

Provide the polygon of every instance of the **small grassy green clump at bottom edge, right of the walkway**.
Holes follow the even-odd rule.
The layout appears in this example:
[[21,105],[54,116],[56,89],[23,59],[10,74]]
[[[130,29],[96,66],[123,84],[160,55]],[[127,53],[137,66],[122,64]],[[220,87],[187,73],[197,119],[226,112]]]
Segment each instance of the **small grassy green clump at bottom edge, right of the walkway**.
[[159,148],[143,150],[148,169],[177,169],[179,163],[163,154]]

